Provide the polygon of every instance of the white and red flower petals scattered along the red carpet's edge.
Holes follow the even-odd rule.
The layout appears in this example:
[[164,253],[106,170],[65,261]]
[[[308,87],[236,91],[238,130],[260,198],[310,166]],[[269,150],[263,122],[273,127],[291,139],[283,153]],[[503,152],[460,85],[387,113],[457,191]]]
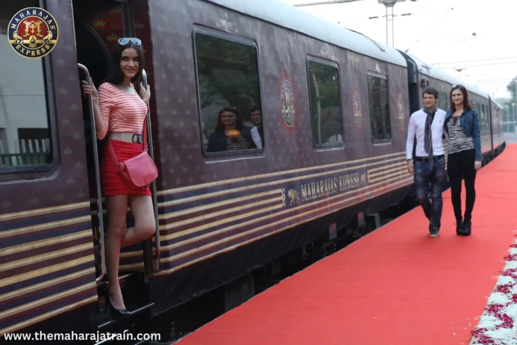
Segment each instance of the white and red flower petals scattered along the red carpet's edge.
[[517,344],[517,241],[505,261],[469,345]]

